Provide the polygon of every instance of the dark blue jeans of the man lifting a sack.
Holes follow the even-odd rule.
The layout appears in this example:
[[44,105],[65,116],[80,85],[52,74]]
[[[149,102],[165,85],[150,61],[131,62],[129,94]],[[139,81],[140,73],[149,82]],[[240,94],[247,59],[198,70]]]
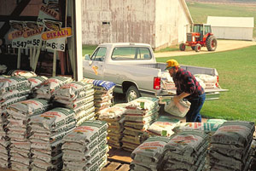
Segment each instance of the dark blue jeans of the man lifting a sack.
[[201,123],[201,107],[206,100],[206,94],[201,94],[198,98],[189,100],[191,103],[190,109],[186,115],[187,123]]

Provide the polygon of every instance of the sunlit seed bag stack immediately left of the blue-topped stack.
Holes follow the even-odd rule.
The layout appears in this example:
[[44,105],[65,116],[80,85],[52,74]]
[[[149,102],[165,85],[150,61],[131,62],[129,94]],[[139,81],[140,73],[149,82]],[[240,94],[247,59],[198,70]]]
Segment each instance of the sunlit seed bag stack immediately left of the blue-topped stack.
[[53,93],[56,102],[75,111],[77,125],[94,119],[94,89],[90,83],[71,82],[57,88]]

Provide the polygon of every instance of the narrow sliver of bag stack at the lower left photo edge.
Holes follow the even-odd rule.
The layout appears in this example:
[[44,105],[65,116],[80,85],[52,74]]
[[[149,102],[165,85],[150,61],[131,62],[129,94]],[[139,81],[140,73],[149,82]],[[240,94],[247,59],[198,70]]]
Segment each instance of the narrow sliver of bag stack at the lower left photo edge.
[[6,122],[3,122],[2,117],[0,116],[0,167],[1,168],[9,168],[10,161],[9,161],[9,147],[10,141],[9,137],[6,136],[5,127]]

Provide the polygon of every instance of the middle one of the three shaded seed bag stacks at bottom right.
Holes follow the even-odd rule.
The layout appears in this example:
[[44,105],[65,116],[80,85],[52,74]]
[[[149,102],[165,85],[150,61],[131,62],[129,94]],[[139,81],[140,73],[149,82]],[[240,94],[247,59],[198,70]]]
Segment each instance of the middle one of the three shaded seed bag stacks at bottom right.
[[198,131],[183,131],[173,134],[165,146],[163,170],[201,171],[205,167],[207,134]]

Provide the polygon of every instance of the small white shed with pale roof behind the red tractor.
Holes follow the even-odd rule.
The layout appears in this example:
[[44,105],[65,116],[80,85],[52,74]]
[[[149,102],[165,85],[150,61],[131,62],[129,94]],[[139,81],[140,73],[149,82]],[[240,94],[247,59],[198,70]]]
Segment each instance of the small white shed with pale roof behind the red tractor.
[[216,17],[208,16],[207,24],[217,38],[253,40],[253,17]]

